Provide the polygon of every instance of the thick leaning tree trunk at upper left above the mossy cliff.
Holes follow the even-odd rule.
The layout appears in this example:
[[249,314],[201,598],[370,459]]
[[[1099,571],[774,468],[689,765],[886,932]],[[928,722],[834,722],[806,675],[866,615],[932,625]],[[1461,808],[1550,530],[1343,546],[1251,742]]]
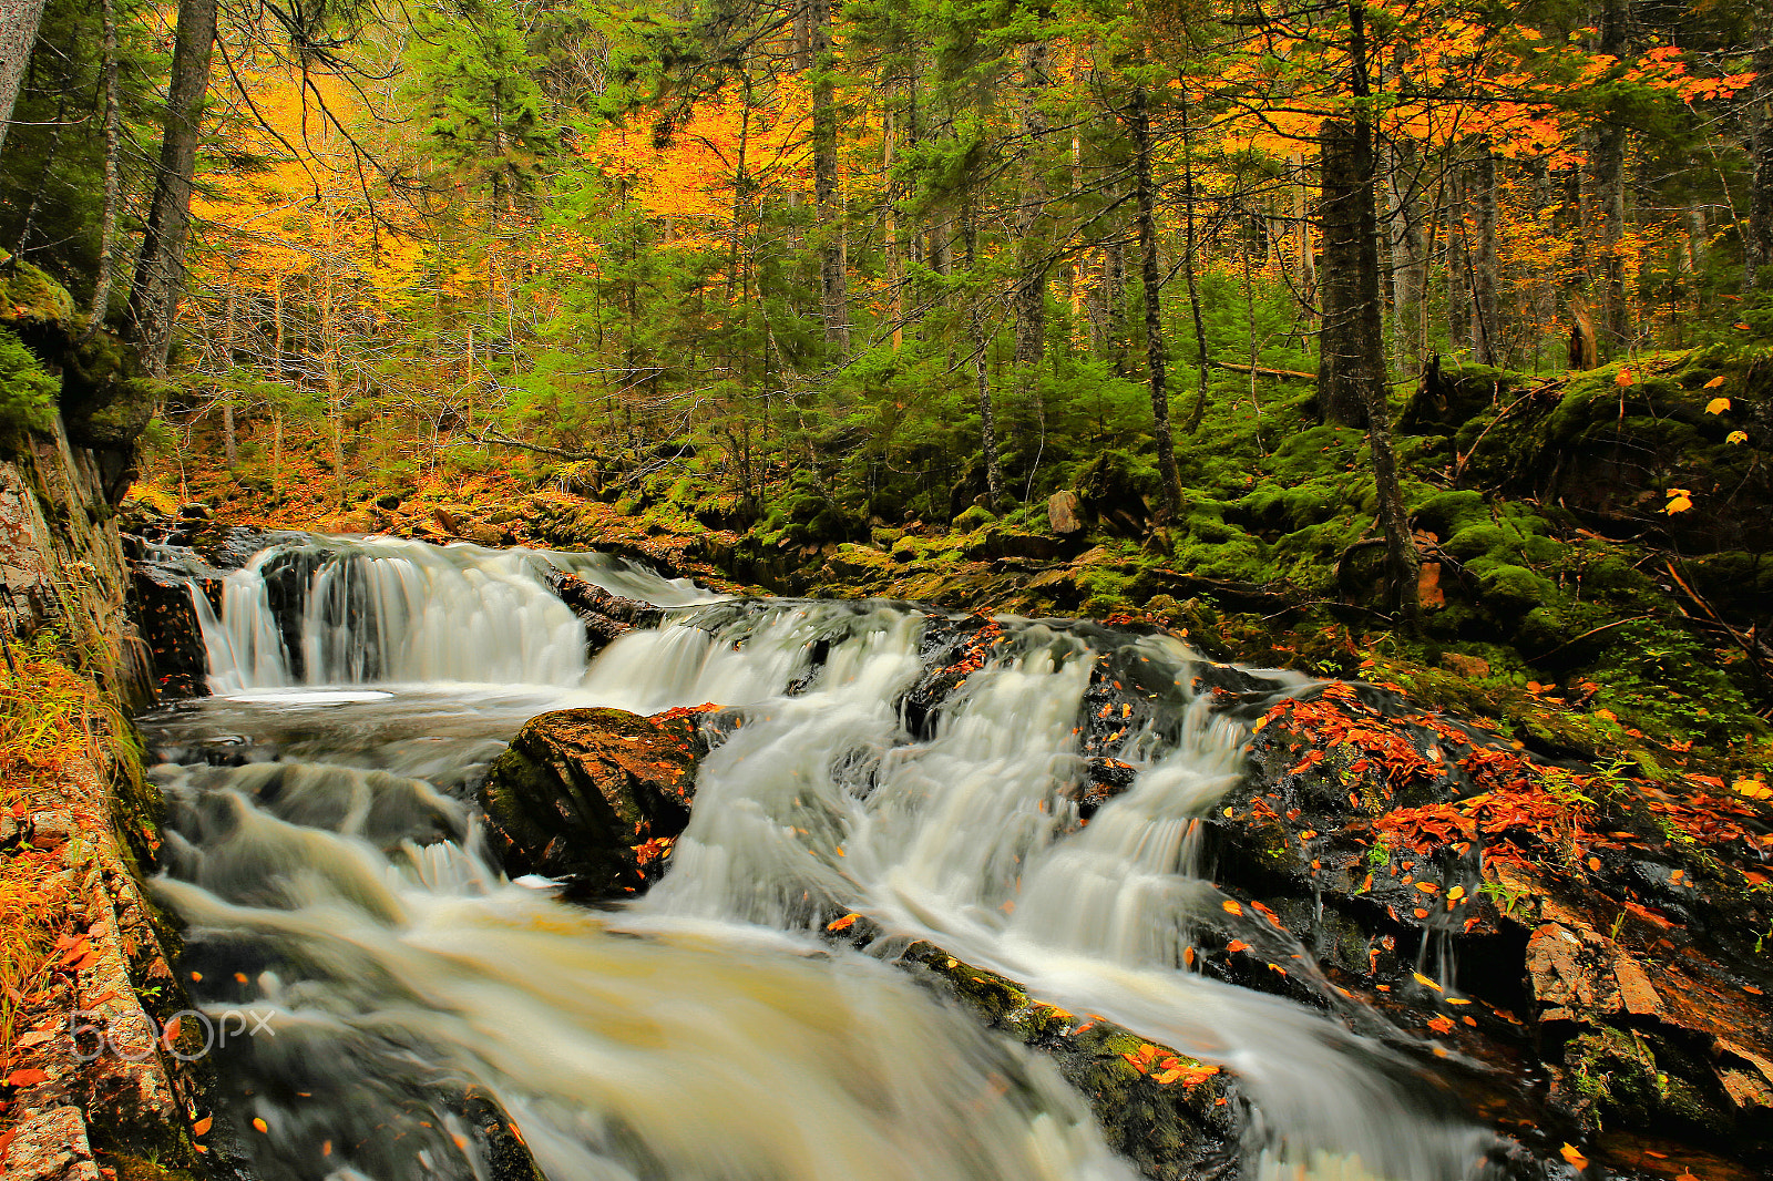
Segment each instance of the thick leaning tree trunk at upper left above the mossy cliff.
[[209,55],[216,37],[216,0],[179,0],[179,32],[172,46],[167,131],[160,144],[154,199],[149,202],[142,255],[129,293],[129,326],[144,367],[167,372],[172,321],[184,284],[184,236],[191,220],[191,179],[197,174]]

